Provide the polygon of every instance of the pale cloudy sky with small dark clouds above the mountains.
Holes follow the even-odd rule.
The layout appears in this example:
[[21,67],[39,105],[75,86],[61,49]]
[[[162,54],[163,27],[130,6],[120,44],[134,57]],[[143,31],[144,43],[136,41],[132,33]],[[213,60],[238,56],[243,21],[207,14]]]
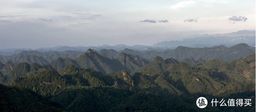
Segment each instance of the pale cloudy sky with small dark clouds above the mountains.
[[1,0],[0,49],[149,45],[255,30],[255,0]]

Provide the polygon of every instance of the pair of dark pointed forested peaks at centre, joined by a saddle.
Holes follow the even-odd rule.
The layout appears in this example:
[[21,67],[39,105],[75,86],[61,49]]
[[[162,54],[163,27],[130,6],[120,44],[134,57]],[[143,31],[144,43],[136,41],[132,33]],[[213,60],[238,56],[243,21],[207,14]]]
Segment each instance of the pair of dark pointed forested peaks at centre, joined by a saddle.
[[140,60],[136,55],[133,56],[124,52],[120,53],[118,58],[110,59],[94,52],[92,49],[88,49],[75,61],[81,68],[93,68],[105,75],[120,70],[126,70],[131,73],[136,68],[148,63],[146,60]]

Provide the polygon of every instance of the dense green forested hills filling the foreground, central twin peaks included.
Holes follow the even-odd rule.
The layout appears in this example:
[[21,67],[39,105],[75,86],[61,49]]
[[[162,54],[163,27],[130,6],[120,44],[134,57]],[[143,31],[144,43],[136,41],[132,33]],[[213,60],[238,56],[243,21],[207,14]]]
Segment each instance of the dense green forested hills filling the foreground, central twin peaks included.
[[[89,49],[76,60],[0,63],[4,112],[255,112],[255,54],[231,62],[193,57],[147,61]],[[208,99],[200,109],[199,97]],[[252,106],[211,106],[211,99],[251,99]]]

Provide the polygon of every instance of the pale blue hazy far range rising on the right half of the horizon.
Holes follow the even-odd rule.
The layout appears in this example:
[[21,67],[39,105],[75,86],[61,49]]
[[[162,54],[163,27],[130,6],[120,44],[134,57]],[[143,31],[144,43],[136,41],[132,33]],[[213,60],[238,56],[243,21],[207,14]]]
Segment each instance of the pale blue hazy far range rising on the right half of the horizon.
[[192,35],[190,38],[183,39],[183,41],[164,41],[154,44],[153,47],[177,47],[180,45],[192,48],[212,47],[215,45],[230,47],[238,43],[246,43],[250,46],[255,46],[255,35],[255,31],[251,30],[239,30],[227,34]]

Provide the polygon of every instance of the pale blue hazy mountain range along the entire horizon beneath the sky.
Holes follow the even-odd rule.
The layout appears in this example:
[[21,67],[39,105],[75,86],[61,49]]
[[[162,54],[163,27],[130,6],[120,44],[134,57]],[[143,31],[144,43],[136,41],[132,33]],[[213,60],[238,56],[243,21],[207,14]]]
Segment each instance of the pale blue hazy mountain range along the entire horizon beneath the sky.
[[177,48],[178,46],[190,47],[190,48],[204,48],[204,47],[213,47],[217,45],[225,45],[226,47],[234,46],[238,43],[246,43],[249,46],[255,46],[255,31],[251,30],[240,30],[237,32],[227,33],[227,34],[215,34],[215,35],[192,35],[190,38],[185,38],[183,41],[164,41],[154,44],[153,46],[146,46],[146,45],[133,45],[128,46],[125,44],[119,45],[101,45],[101,46],[57,46],[51,48],[38,48],[38,49],[31,49],[31,48],[21,48],[21,49],[2,49],[0,50],[0,55],[10,56],[14,54],[18,54],[22,51],[38,51],[38,52],[47,52],[47,51],[80,51],[85,52],[88,49],[94,49],[100,51],[102,49],[113,49],[116,51],[122,51],[124,49],[132,49],[134,51],[157,51],[157,52],[164,52],[170,51],[172,49]]

